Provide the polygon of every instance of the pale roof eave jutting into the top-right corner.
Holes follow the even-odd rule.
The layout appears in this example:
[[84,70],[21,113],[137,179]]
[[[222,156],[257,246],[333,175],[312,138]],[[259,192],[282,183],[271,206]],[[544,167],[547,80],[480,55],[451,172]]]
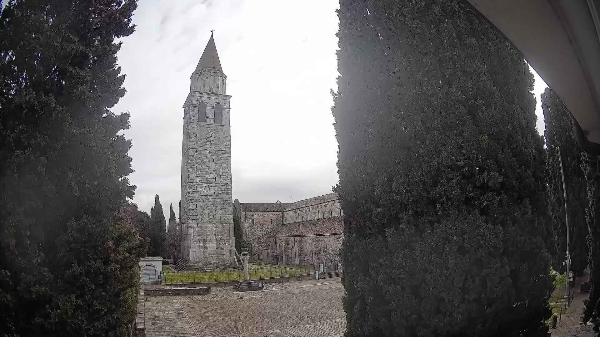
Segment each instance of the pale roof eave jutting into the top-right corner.
[[600,153],[600,0],[469,2],[559,95],[580,146]]

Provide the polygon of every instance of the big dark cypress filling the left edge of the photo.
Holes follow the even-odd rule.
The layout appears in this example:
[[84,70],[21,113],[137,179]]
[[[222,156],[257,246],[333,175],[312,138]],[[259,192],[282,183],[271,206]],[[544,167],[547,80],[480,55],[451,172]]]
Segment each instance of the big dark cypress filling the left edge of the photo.
[[138,240],[116,65],[135,0],[0,13],[0,335],[131,336]]

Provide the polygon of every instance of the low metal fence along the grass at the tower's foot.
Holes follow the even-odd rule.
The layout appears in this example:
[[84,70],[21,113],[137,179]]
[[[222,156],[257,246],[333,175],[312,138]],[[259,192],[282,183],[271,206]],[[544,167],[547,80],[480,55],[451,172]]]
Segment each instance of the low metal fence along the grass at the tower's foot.
[[[248,266],[250,279],[254,281],[265,278],[277,278],[283,276],[314,275],[313,266],[275,266],[271,264],[253,264]],[[241,269],[202,270],[190,272],[164,273],[166,284],[186,283],[212,283],[241,281],[244,279],[244,271]]]

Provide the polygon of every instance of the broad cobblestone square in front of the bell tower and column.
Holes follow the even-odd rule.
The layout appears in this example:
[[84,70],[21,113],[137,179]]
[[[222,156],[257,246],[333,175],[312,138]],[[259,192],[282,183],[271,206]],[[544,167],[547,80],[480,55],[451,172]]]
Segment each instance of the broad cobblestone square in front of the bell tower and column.
[[332,337],[346,329],[339,278],[265,284],[238,293],[213,288],[197,296],[146,296],[148,337]]

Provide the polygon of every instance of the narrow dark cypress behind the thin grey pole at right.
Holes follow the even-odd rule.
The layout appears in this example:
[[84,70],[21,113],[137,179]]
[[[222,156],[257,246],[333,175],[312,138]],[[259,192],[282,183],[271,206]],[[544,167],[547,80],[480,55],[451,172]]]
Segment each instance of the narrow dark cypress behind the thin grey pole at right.
[[586,207],[587,186],[583,173],[581,150],[575,142],[569,112],[565,104],[550,89],[541,95],[544,122],[546,124],[545,138],[548,149],[548,201],[554,226],[553,268],[561,273],[565,270],[563,261],[566,253],[566,224],[565,197],[562,177],[560,175],[560,153],[565,173],[566,198],[569,213],[569,252],[571,254],[571,269],[575,275],[581,275],[587,267],[587,224]]

